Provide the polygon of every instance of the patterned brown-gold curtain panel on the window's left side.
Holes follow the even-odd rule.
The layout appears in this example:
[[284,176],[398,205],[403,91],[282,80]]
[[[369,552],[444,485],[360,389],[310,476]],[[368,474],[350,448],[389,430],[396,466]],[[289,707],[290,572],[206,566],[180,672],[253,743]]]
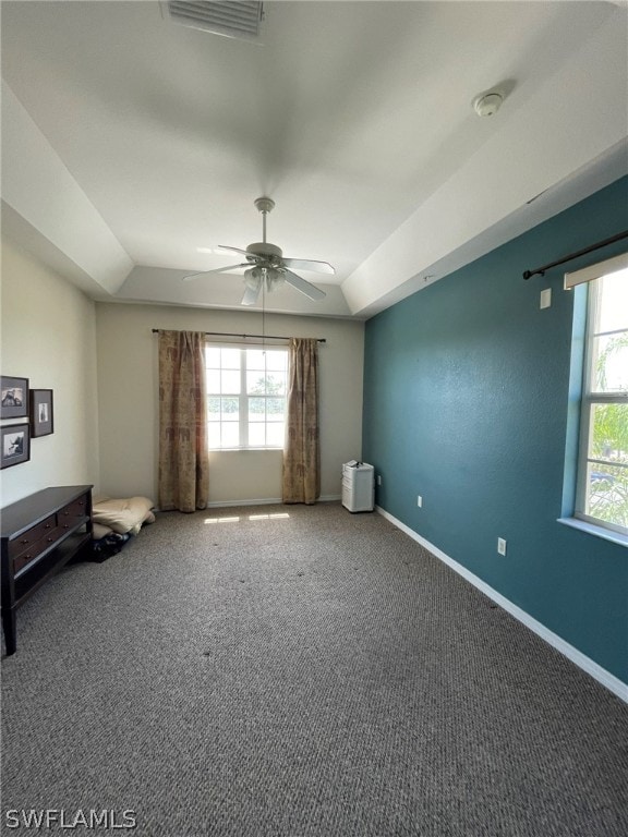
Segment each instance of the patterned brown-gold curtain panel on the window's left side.
[[205,335],[159,331],[159,508],[195,511],[209,495]]

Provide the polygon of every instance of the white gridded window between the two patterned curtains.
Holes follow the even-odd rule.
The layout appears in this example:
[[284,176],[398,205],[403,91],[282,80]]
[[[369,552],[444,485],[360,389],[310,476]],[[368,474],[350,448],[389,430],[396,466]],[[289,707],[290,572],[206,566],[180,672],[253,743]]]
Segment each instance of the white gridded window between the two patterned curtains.
[[282,448],[288,350],[207,345],[209,448]]

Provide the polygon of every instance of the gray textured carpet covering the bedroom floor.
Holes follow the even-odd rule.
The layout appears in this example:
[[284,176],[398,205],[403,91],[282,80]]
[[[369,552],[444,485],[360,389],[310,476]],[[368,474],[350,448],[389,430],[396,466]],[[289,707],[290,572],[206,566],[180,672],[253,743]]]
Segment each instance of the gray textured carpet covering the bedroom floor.
[[160,514],[17,623],[8,834],[628,834],[628,707],[377,514]]

